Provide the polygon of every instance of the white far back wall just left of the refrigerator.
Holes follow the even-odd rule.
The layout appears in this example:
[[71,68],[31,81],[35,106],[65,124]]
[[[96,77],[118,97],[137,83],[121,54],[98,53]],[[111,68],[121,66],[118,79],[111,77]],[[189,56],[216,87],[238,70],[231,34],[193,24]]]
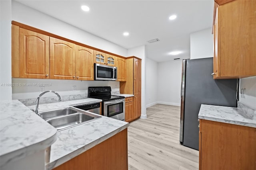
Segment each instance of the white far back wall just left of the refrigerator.
[[158,63],[158,103],[180,106],[182,60]]

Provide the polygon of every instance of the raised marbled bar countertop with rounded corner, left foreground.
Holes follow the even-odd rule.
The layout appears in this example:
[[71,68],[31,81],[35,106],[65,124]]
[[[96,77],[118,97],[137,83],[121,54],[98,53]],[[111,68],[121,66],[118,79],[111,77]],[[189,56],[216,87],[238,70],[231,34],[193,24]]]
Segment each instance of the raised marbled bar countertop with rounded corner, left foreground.
[[44,150],[57,139],[57,130],[18,100],[0,101],[1,166]]

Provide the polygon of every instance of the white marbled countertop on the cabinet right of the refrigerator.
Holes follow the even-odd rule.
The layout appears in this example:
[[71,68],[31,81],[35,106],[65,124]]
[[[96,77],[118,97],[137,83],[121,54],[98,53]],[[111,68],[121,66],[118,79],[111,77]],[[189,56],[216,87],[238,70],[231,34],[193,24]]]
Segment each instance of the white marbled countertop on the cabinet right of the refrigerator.
[[256,128],[256,115],[246,114],[237,107],[202,104],[198,118]]

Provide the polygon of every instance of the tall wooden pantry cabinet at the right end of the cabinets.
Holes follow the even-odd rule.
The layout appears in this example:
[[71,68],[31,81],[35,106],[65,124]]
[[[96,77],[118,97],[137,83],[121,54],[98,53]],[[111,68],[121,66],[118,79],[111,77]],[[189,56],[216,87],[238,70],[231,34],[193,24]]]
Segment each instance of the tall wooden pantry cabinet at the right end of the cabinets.
[[120,93],[134,95],[134,112],[132,120],[141,115],[141,59],[126,58],[126,82],[120,82]]

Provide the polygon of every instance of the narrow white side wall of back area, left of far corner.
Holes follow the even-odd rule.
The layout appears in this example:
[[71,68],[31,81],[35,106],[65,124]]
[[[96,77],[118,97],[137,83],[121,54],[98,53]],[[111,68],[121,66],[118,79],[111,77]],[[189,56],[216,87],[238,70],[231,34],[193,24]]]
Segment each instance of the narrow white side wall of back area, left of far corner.
[[146,60],[146,107],[157,104],[158,91],[158,63],[151,59]]

